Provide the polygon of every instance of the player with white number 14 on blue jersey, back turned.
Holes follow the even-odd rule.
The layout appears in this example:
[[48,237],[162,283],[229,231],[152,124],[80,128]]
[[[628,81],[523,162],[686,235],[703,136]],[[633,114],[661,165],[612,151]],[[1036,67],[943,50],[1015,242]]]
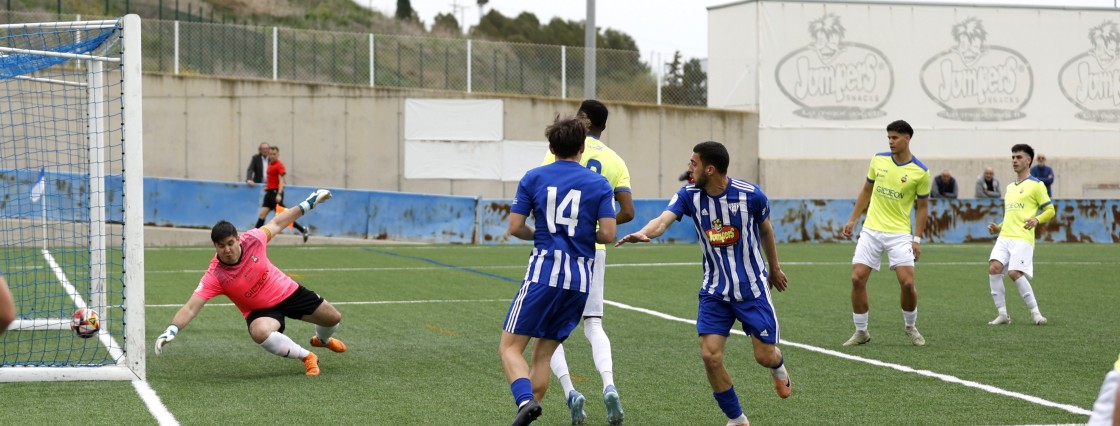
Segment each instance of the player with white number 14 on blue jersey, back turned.
[[[595,243],[615,239],[614,189],[605,177],[579,165],[586,121],[557,118],[544,135],[557,161],[525,173],[510,207],[510,234],[533,241],[525,279],[510,304],[498,343],[517,402],[514,426],[541,415],[552,353],[579,325],[587,304]],[[525,224],[530,214],[535,229]],[[531,337],[538,337],[532,369],[523,355]]]

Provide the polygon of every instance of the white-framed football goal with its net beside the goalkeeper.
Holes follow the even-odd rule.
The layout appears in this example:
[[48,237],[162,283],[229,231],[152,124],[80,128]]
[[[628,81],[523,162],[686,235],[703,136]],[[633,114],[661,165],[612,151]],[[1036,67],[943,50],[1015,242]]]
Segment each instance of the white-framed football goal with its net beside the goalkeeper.
[[136,15],[0,26],[0,381],[146,378],[140,82]]

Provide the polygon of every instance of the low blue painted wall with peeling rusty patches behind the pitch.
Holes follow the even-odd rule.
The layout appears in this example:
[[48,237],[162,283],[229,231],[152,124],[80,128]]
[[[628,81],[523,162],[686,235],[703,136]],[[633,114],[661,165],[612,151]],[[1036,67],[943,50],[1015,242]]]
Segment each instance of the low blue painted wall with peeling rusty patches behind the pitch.
[[[38,170],[0,170],[0,217],[35,219],[30,202]],[[87,178],[47,174],[46,205],[50,220],[88,217]],[[120,175],[106,180],[109,217],[122,216]],[[284,204],[295,205],[315,188],[289,186]],[[522,243],[506,235],[510,200],[379,191],[332,189],[334,198],[300,223],[324,237],[448,243]],[[256,223],[261,186],[243,183],[144,178],[144,222],[150,225],[211,228],[227,220],[244,230]],[[666,200],[635,200],[633,221],[618,226],[623,235],[637,231],[664,210]],[[852,200],[771,200],[771,223],[780,242],[850,241],[840,235]],[[1058,200],[1057,216],[1040,226],[1039,241],[1120,242],[1120,200]],[[65,206],[65,207],[63,207]],[[987,225],[1002,219],[998,200],[932,200],[925,238],[930,242],[991,241]],[[858,232],[858,228],[857,228]],[[688,221],[673,223],[659,241],[696,242]]]

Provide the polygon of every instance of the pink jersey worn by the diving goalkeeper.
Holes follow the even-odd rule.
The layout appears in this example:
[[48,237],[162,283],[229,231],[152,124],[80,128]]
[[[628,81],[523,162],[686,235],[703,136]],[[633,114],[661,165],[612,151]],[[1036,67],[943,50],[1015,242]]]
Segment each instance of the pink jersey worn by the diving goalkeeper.
[[214,256],[209,269],[195,288],[195,296],[209,300],[225,295],[249,317],[255,309],[269,308],[296,293],[299,284],[269,261],[268,237],[260,228],[241,234],[241,261],[228,266]]

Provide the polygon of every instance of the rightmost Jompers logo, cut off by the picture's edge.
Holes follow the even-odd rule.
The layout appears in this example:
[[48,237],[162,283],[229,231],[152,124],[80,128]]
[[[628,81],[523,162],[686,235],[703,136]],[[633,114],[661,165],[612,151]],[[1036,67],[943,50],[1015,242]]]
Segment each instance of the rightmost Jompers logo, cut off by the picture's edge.
[[1120,122],[1120,26],[1104,21],[1089,30],[1090,49],[1062,66],[1057,83],[1085,121]]

